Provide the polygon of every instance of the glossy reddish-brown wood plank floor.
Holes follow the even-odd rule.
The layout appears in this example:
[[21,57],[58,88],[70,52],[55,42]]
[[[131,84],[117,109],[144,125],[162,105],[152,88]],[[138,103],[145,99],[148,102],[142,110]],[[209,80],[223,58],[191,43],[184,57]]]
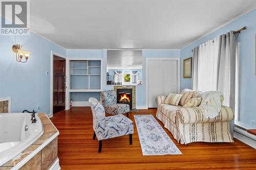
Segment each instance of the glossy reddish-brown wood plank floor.
[[[133,122],[135,114],[155,116],[156,109],[130,113]],[[256,169],[256,150],[236,139],[234,143],[182,145],[164,128],[183,155],[143,156],[135,125],[133,145],[129,136],[108,139],[98,153],[98,140],[92,139],[90,107],[73,107],[54,114],[51,120],[60,133],[58,157],[62,169]]]

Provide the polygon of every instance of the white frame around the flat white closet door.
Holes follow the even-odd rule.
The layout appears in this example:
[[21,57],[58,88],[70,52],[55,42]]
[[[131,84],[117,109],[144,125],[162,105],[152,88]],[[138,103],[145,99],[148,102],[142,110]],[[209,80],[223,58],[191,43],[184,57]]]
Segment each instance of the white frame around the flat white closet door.
[[146,108],[148,108],[148,75],[147,75],[147,64],[149,60],[176,60],[177,61],[177,91],[180,93],[180,58],[173,57],[159,57],[159,58],[146,58]]

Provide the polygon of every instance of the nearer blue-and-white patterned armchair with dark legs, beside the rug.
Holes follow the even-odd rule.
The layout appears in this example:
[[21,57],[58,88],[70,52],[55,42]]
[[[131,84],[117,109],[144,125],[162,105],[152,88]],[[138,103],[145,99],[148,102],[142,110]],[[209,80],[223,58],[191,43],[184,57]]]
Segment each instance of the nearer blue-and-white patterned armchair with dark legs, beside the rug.
[[95,98],[89,99],[93,112],[93,139],[99,140],[99,153],[101,152],[102,140],[118,136],[130,135],[130,144],[133,137],[133,122],[122,114],[105,117],[105,110]]

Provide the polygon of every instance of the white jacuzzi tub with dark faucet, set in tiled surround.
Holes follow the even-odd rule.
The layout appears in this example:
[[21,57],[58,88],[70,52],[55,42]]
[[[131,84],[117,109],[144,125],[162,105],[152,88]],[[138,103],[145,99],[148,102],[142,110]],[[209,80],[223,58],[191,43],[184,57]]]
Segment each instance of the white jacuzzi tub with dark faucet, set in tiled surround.
[[0,114],[0,166],[27,149],[44,133],[40,118],[36,115],[34,124],[30,119],[29,113]]

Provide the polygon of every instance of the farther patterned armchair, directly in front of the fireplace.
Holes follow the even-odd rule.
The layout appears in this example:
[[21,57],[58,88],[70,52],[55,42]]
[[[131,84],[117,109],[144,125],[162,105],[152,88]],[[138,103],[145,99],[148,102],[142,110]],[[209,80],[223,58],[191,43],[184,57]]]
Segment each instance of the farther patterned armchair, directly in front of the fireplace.
[[106,113],[112,115],[126,113],[127,117],[129,117],[130,106],[117,103],[116,92],[114,90],[101,91],[100,98]]

